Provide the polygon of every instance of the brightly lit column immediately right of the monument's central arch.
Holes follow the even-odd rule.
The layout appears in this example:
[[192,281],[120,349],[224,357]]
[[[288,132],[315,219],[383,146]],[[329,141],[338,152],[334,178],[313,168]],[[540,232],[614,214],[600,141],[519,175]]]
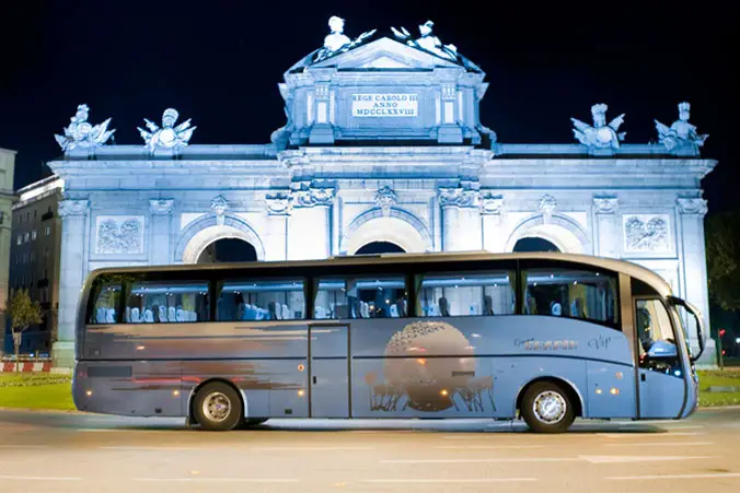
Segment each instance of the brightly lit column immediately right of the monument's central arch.
[[483,249],[479,192],[463,188],[440,188],[442,250]]

